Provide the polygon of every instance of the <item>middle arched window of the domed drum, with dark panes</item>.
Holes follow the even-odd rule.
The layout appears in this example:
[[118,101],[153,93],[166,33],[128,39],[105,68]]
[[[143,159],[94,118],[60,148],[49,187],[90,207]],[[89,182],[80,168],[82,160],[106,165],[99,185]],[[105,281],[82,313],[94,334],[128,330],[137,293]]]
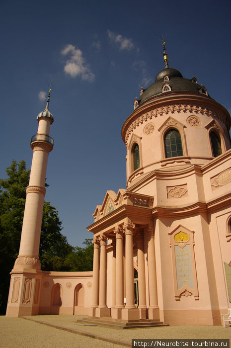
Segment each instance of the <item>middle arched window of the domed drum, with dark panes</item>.
[[170,129],[164,137],[166,158],[183,156],[180,133],[176,129]]

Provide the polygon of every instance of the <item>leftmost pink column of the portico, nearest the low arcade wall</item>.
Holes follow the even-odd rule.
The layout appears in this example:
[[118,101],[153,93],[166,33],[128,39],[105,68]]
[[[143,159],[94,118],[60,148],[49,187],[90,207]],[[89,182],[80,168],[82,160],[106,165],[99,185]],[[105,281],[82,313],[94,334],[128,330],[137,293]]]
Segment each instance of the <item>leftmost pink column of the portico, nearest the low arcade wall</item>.
[[92,305],[90,310],[90,317],[95,317],[95,309],[99,305],[99,239],[94,238],[92,241],[94,244],[93,254],[93,279],[92,279]]

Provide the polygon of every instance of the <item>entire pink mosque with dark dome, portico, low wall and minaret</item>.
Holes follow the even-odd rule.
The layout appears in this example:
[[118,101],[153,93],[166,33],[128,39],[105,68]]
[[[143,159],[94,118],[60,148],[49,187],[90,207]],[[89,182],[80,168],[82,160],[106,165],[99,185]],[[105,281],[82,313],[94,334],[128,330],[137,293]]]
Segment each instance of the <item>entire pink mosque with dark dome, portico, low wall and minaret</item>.
[[42,271],[45,175],[53,148],[38,115],[7,316],[86,314],[117,321],[220,325],[231,308],[231,117],[196,77],[168,66],[122,127],[127,187],[107,191],[88,226],[93,271]]

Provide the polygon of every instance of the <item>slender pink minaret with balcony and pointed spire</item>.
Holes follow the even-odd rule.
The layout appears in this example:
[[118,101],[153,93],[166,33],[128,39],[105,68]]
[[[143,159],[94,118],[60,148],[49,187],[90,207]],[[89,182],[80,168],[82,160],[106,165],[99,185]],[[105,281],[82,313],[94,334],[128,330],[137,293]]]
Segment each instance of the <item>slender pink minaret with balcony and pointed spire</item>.
[[49,152],[54,141],[49,136],[53,115],[47,105],[37,116],[38,132],[31,138],[33,158],[29,186],[26,188],[26,203],[22,224],[18,257],[11,271],[11,282],[6,315],[10,317],[38,314],[40,278],[39,244],[46,193],[45,179]]

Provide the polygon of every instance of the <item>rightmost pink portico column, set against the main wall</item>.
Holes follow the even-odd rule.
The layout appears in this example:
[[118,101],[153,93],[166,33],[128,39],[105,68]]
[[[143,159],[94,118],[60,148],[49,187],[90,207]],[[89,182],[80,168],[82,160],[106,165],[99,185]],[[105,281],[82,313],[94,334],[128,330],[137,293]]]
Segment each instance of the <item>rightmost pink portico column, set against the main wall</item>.
[[157,299],[157,282],[155,266],[154,228],[147,228],[148,235],[148,270],[149,270],[149,319],[159,320],[159,307]]

